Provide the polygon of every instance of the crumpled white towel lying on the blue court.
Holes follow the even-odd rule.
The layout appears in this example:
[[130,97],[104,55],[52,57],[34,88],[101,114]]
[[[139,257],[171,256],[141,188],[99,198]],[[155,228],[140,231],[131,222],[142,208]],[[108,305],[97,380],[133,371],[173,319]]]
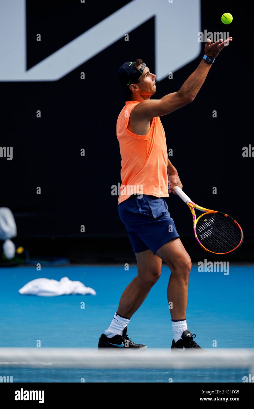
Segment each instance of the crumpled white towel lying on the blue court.
[[63,277],[60,281],[35,279],[25,284],[18,292],[24,295],[39,295],[40,297],[55,297],[56,295],[69,294],[96,295],[93,288],[86,287],[80,281],[71,281],[68,277]]

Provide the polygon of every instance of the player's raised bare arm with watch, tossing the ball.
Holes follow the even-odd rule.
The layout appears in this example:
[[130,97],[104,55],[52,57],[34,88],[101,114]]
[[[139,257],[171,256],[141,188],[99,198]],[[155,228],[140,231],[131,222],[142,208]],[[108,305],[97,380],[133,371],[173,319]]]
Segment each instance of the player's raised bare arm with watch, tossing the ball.
[[[208,39],[208,43],[205,45],[204,58],[198,65],[197,69],[181,86],[180,90],[178,92],[172,92],[171,94],[165,95],[165,97],[161,99],[144,99],[143,101],[140,101],[140,103],[133,109],[132,121],[135,121],[135,119],[138,118],[142,118],[142,120],[149,120],[153,117],[167,115],[170,114],[170,112],[173,112],[192,102],[203,85],[212,63],[214,62],[214,58],[216,58],[225,45],[228,45],[231,41],[232,37],[227,38],[225,41],[218,40],[216,43],[211,43],[211,40]],[[141,85],[142,80],[146,80],[146,77],[144,79],[142,77],[149,74],[150,72],[146,71],[142,74],[140,81]],[[130,85],[130,89],[133,91],[133,94],[135,94],[135,90],[137,88],[139,88],[139,84]]]

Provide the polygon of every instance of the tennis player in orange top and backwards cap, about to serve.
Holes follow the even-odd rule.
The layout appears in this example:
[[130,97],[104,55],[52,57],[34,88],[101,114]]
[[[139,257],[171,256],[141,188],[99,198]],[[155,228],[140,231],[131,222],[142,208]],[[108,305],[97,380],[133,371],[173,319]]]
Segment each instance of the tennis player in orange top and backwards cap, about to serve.
[[168,159],[160,117],[194,100],[214,58],[231,41],[232,37],[216,43],[208,39],[197,69],[178,92],[161,99],[150,99],[156,91],[156,75],[142,60],[127,62],[119,68],[118,82],[124,89],[126,103],[117,119],[121,153],[118,209],[137,258],[138,274],[124,290],[113,321],[99,339],[99,348],[146,348],[128,338],[127,325],[159,279],[163,260],[171,270],[167,291],[174,333],[171,348],[181,352],[201,349],[186,323],[191,259],[165,200],[175,186],[182,188],[182,184],[177,169]]

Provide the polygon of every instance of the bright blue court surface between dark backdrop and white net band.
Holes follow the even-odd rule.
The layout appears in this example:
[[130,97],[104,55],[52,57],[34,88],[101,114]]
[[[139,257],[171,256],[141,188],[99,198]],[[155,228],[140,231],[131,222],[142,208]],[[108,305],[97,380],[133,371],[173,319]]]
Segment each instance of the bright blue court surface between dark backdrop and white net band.
[[[0,346],[97,347],[99,336],[108,328],[121,293],[137,274],[136,267],[34,267],[0,270]],[[96,296],[24,296],[25,283],[46,277],[82,281]],[[150,348],[168,348],[172,342],[170,311],[166,290],[170,270],[162,267],[159,281],[133,315],[128,335]],[[221,348],[253,347],[252,266],[231,266],[230,274],[198,272],[192,267],[187,324],[203,348],[216,343]],[[85,308],[80,308],[84,301]]]

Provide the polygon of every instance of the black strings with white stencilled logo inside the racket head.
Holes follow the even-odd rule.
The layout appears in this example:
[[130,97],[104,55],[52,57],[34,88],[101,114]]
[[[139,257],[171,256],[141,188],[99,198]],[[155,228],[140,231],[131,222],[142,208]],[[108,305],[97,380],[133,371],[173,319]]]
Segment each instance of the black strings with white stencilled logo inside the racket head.
[[204,214],[196,225],[201,244],[211,252],[227,253],[241,242],[241,230],[230,216],[223,213]]

